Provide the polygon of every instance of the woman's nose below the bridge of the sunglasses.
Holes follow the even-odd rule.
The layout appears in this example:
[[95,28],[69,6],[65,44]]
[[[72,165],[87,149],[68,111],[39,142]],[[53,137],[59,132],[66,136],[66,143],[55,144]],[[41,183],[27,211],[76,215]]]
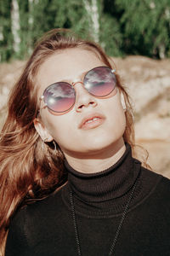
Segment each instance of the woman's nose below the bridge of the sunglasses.
[[77,82],[74,85],[74,89],[76,90],[76,103],[75,108],[77,112],[81,112],[83,108],[95,107],[97,106],[97,99],[91,95],[88,90],[84,88],[82,82]]

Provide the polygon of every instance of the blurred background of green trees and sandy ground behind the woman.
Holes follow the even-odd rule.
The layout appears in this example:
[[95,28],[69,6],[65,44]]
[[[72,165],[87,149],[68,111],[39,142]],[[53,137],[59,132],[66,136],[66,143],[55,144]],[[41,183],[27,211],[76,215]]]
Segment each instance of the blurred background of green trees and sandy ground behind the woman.
[[136,143],[170,177],[170,1],[1,0],[0,130],[9,91],[37,38],[54,27],[92,38],[113,57],[132,98]]

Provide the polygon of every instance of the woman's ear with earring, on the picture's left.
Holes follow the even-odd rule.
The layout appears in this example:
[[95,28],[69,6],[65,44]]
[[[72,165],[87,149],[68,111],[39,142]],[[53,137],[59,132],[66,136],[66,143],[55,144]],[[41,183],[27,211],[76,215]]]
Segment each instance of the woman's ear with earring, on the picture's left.
[[39,136],[42,138],[43,142],[49,143],[53,141],[53,137],[49,134],[46,127],[42,124],[42,121],[38,118],[34,119],[34,127],[39,134]]

